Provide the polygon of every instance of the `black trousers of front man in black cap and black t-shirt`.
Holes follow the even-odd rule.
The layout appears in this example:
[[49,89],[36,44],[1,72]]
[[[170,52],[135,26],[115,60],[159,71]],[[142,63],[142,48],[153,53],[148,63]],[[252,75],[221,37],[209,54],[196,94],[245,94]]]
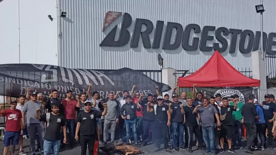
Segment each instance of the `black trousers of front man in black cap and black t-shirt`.
[[97,134],[91,135],[80,135],[80,148],[81,148],[81,155],[86,155],[86,149],[88,145],[88,154],[94,154],[94,144]]

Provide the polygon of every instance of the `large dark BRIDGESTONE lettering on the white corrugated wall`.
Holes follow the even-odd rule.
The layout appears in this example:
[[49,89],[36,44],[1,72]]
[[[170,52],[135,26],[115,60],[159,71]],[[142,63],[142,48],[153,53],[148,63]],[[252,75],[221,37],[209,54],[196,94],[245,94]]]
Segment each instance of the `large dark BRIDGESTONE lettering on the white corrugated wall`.
[[[127,45],[130,40],[130,31],[127,30],[128,27],[132,24],[132,17],[128,13],[124,13],[122,26],[119,34],[119,39],[115,41],[115,34],[117,31],[118,25],[116,25],[104,40],[101,42],[100,46],[113,46],[113,47],[122,47]],[[146,25],[146,30],[141,32],[142,25]],[[153,23],[147,19],[136,18],[134,23],[134,29],[132,31],[132,38],[130,47],[138,47],[140,36],[142,38],[144,48],[160,48],[161,37],[163,34],[164,21],[157,21],[154,31],[153,43],[150,42],[149,35],[153,33]],[[173,29],[176,29],[176,36],[174,38],[174,43],[170,44]],[[191,31],[194,31],[195,34],[201,33],[201,37],[193,37],[192,44],[189,44],[189,38]],[[215,39],[218,40],[222,46],[219,46],[219,43],[213,43],[212,47],[207,46],[207,41],[214,40],[214,36],[208,35],[209,31],[215,32]],[[241,53],[250,53],[252,50],[259,50],[261,32],[256,31],[255,34],[251,30],[240,30],[232,29],[226,27],[215,26],[204,26],[201,28],[198,24],[188,24],[185,28],[179,23],[167,22],[166,30],[163,39],[162,49],[164,50],[175,50],[180,45],[184,50],[195,51],[198,49],[201,51],[213,51],[218,50],[219,52],[224,52],[229,46],[229,53],[235,53],[236,46]],[[226,36],[231,35],[230,44],[228,45]],[[225,37],[223,37],[225,36]],[[238,38],[238,36],[240,36]],[[248,37],[248,40],[246,39]],[[274,37],[274,38],[273,38]],[[238,40],[238,45],[237,45]],[[268,35],[263,32],[263,47],[264,51],[268,54],[276,54],[275,50],[272,50],[272,47],[276,45],[276,33],[269,33]],[[245,45],[247,45],[245,47]]]

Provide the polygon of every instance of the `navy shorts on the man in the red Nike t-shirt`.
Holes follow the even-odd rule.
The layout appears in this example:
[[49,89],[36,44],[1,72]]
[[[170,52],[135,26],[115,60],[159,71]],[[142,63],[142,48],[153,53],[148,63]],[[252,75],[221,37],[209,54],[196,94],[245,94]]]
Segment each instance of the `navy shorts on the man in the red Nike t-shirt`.
[[18,145],[19,135],[19,131],[5,131],[3,140],[4,146]]

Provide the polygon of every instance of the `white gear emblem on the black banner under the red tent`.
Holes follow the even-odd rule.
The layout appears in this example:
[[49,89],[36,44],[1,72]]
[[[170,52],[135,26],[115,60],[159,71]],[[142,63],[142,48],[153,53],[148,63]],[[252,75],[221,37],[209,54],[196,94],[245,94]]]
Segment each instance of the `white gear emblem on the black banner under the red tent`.
[[219,89],[215,92],[214,97],[216,94],[220,94],[222,96],[222,98],[227,97],[228,101],[230,101],[230,98],[232,95],[237,94],[239,96],[239,98],[238,98],[239,101],[242,103],[245,103],[245,97],[237,89]]

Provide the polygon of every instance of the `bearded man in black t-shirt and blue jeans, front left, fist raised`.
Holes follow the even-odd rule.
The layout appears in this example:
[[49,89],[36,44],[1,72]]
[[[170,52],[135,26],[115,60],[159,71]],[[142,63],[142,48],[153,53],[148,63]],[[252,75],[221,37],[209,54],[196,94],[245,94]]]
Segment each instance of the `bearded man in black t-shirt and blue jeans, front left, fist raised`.
[[59,148],[61,145],[61,128],[64,135],[64,138],[62,139],[63,143],[66,143],[67,140],[66,120],[63,115],[58,113],[59,105],[54,103],[51,106],[51,113],[44,113],[40,115],[39,111],[41,111],[41,108],[37,108],[35,113],[35,118],[47,122],[43,145],[44,155],[49,155],[52,149],[54,150],[54,155],[59,154]]

